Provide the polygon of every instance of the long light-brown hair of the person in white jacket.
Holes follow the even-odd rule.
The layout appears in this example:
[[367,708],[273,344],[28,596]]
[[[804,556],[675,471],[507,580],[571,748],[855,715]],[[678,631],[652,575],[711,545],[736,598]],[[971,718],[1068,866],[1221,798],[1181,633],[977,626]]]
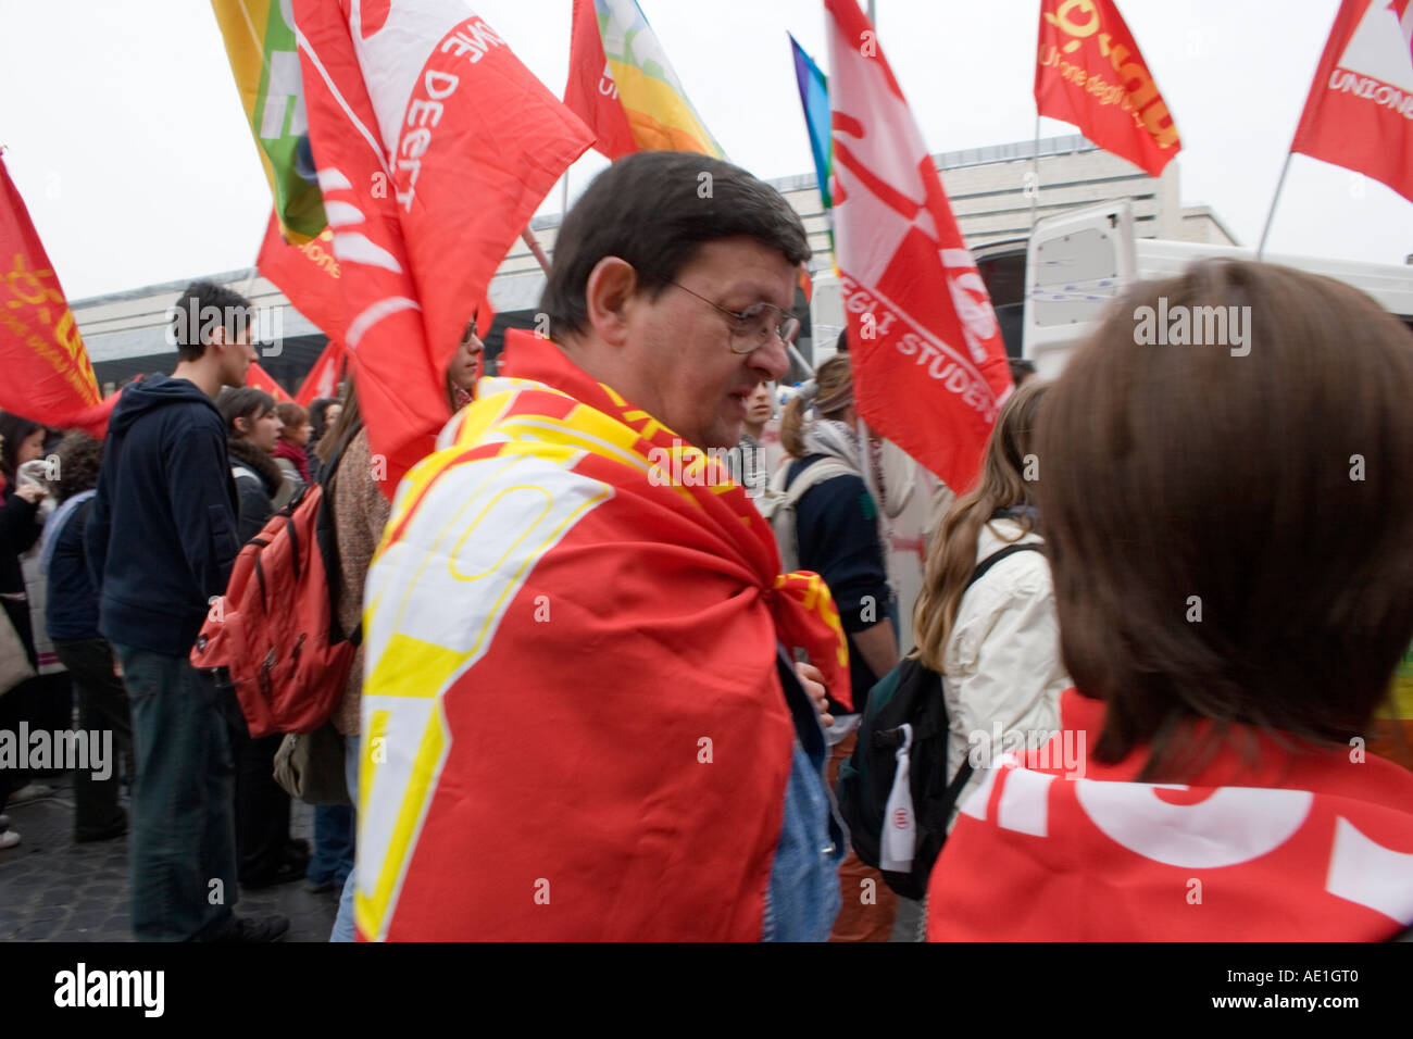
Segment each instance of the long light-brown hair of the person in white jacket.
[[913,638],[917,654],[941,674],[942,657],[962,592],[976,570],[976,539],[982,524],[998,510],[1012,510],[1023,537],[1034,529],[1034,430],[1040,399],[1048,383],[1030,379],[1017,389],[996,416],[976,486],[947,510],[942,526],[927,551],[923,587],[913,605]]

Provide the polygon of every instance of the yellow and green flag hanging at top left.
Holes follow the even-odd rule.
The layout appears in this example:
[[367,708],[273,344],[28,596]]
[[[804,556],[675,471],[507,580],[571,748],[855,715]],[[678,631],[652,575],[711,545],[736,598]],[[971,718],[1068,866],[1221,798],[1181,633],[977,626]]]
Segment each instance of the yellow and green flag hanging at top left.
[[226,40],[280,229],[287,240],[301,245],[328,221],[304,117],[294,27],[280,13],[280,0],[211,0],[211,7]]

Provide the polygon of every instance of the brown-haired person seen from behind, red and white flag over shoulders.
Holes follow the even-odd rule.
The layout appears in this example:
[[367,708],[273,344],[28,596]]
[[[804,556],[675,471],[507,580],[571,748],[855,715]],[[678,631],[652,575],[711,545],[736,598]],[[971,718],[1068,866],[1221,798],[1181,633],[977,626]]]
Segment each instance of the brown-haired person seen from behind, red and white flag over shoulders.
[[[1246,332],[1145,345],[1154,312]],[[1366,735],[1413,639],[1410,400],[1407,328],[1328,278],[1204,262],[1113,305],[1036,431],[1074,688],[964,806],[928,937],[1407,929],[1413,775]]]

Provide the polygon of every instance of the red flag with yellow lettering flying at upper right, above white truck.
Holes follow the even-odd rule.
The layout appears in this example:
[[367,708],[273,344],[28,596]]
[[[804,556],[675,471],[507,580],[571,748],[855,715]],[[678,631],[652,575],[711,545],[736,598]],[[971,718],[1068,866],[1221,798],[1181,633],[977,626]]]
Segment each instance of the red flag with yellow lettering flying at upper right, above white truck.
[[1153,177],[1183,148],[1113,0],[1043,0],[1036,110]]

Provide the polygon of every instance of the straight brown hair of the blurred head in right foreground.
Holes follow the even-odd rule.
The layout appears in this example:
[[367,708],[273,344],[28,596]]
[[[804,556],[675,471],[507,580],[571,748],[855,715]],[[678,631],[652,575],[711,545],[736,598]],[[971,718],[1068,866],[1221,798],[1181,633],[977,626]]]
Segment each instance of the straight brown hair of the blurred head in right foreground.
[[[1154,314],[1226,342],[1157,345]],[[1413,636],[1397,319],[1328,278],[1200,263],[1109,312],[1036,450],[1064,663],[1106,701],[1099,761],[1147,745],[1145,777],[1173,775],[1211,751],[1200,718],[1364,731]]]

